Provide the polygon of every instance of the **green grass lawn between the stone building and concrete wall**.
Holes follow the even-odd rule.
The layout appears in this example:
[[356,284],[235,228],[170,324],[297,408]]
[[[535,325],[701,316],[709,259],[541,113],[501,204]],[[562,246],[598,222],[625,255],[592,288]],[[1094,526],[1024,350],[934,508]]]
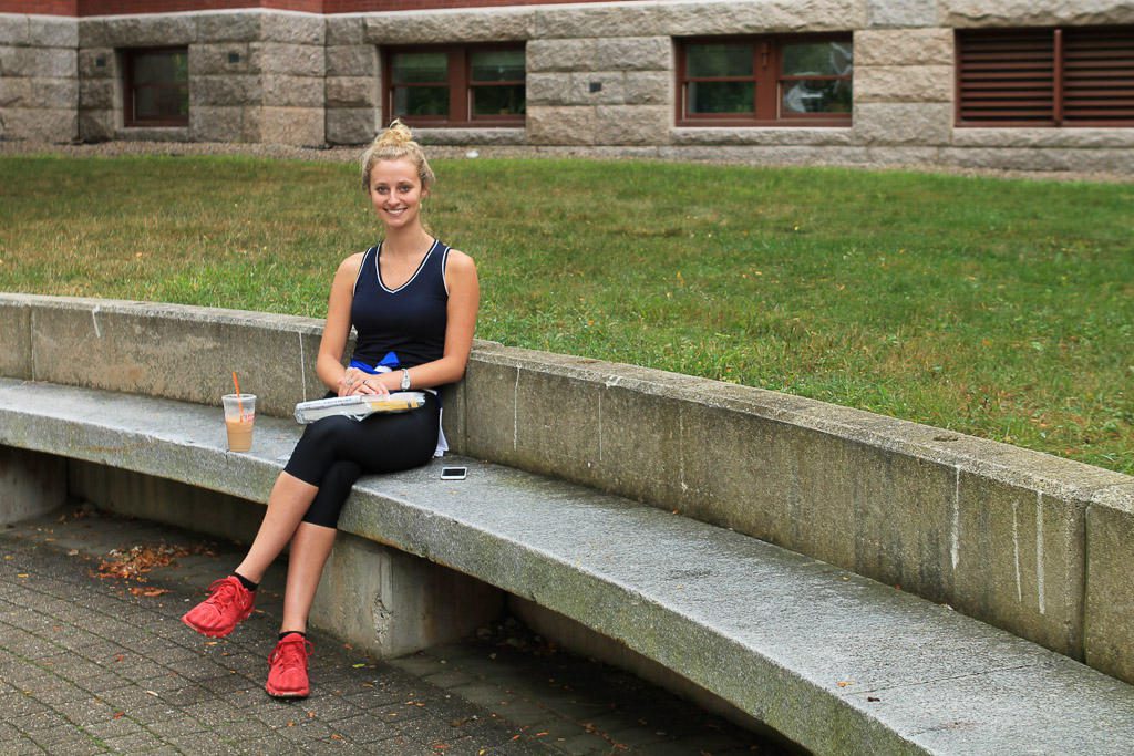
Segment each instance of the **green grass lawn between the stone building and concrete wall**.
[[[477,334],[1134,473],[1134,185],[437,161]],[[375,241],[356,169],[0,159],[0,290],[321,317]]]

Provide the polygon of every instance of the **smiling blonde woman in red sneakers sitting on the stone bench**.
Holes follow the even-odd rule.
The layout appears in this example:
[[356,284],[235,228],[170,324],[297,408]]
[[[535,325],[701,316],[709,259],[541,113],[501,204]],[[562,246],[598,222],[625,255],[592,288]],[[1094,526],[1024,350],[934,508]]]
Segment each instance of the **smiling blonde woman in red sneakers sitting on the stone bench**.
[[[362,474],[424,465],[446,448],[440,407],[429,390],[464,374],[480,288],[472,258],[434,239],[422,223],[433,179],[421,146],[399,121],[363,154],[362,185],[384,228],[383,240],[339,265],[316,363],[320,380],[331,389],[328,396],[425,390],[425,406],[362,422],[333,416],[308,425],[272,487],[244,561],[183,618],[205,636],[227,636],[252,613],[256,585],[290,541],[279,643],[268,659],[265,689],[272,696],[310,693],[307,613],[350,486]],[[357,342],[344,368],[352,325]]]

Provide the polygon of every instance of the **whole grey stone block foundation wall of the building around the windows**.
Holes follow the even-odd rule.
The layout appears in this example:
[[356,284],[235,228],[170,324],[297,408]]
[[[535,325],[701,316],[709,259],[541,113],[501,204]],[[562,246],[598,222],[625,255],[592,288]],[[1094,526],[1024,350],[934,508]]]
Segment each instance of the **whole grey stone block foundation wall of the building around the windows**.
[[[778,164],[943,164],[1134,172],[1134,128],[955,125],[956,29],[1131,25],[1123,0],[634,0],[308,14],[248,9],[52,19],[0,15],[5,138],[369,142],[396,45],[522,42],[522,128],[425,128],[501,154]],[[76,31],[77,29],[77,31]],[[847,127],[677,127],[676,45],[691,36],[849,33]],[[191,124],[122,128],[121,51],[186,45]],[[514,147],[518,147],[515,150]]]

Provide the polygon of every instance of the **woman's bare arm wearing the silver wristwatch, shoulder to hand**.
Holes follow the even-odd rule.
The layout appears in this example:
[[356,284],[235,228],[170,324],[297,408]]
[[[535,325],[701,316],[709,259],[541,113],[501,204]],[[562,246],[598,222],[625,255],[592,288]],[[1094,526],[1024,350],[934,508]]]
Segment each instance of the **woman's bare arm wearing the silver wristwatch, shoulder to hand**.
[[[411,389],[431,389],[459,381],[468,364],[473,332],[476,330],[476,312],[481,306],[481,287],[473,258],[463,252],[450,249],[445,281],[449,287],[445,352],[441,359],[409,369]],[[401,371],[372,376],[370,383],[380,383],[387,391],[400,391]]]

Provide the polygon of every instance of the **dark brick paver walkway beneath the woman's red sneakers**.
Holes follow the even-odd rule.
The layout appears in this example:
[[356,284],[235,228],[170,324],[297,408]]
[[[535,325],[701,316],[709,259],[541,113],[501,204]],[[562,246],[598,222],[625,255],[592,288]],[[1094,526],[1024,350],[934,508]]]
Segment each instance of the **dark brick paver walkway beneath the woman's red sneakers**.
[[[112,549],[162,545],[180,555],[145,583],[99,577]],[[231,544],[77,510],[0,528],[0,754],[780,753],[511,621],[384,662],[313,634],[312,696],[274,700],[280,569],[211,640],[179,618],[236,563]]]

